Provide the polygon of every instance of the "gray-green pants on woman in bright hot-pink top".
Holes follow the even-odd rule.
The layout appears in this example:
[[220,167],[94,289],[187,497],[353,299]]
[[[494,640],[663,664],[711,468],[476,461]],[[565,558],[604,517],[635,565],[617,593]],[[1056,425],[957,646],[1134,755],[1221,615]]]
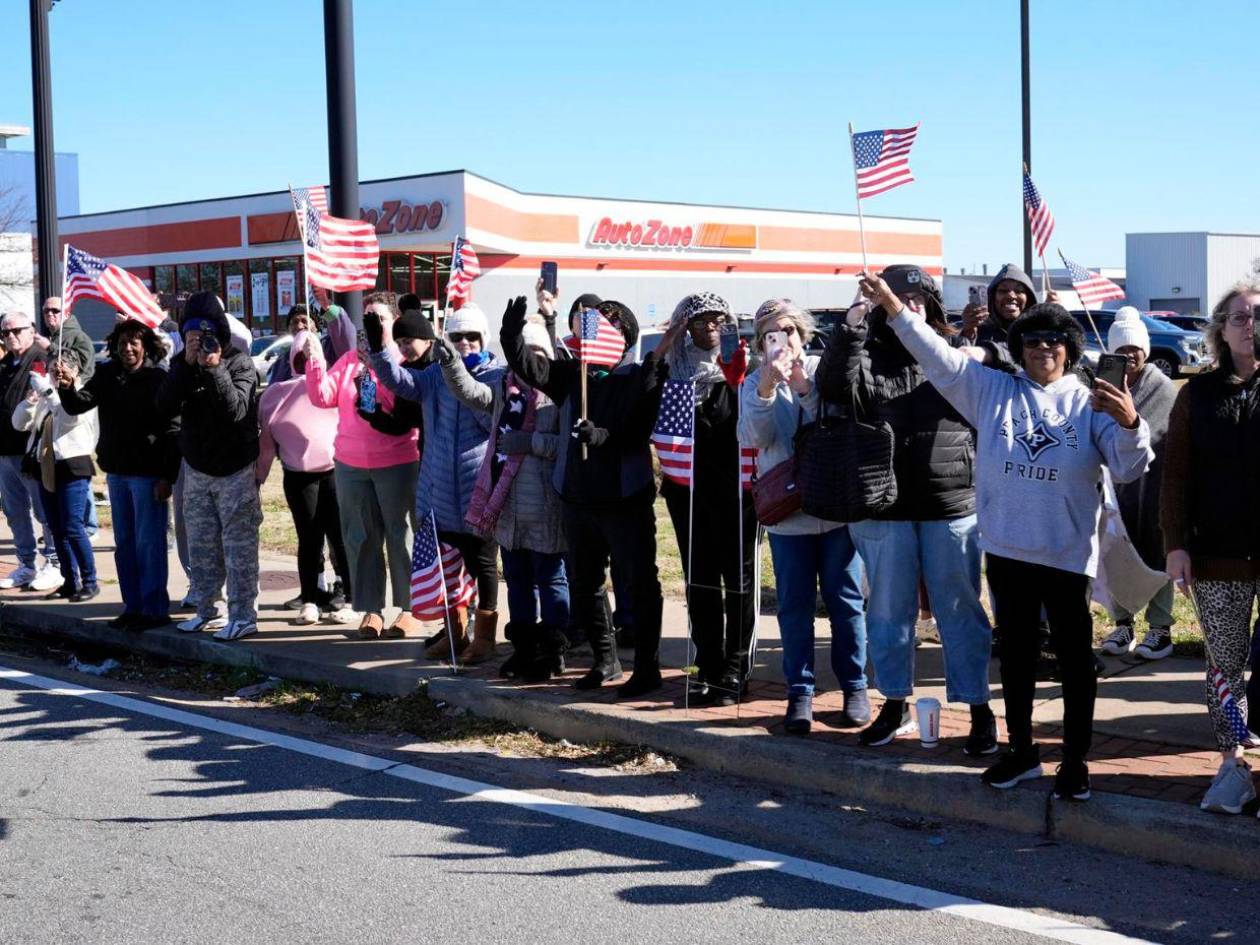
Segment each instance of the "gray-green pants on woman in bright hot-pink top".
[[354,609],[381,614],[386,607],[386,561],[396,607],[411,610],[411,513],[420,462],[359,469],[338,461],[336,504],[350,564]]

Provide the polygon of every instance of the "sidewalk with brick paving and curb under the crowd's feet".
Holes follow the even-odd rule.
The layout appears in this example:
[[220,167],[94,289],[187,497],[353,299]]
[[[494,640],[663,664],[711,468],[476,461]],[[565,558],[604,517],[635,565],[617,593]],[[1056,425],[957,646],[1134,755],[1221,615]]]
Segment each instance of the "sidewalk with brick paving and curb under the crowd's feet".
[[[106,621],[121,606],[108,533],[102,532],[101,538],[97,566],[102,595],[97,600],[74,605],[38,600],[40,595],[21,591],[3,592],[0,625],[11,633],[55,633],[382,694],[406,694],[427,680],[433,698],[557,737],[644,743],[741,776],[827,790],[844,803],[891,803],[927,815],[1260,876],[1260,858],[1252,853],[1260,840],[1254,813],[1218,816],[1197,808],[1217,765],[1202,702],[1203,667],[1197,660],[1147,664],[1105,658],[1108,669],[1099,682],[1090,757],[1094,800],[1051,803],[1048,777],[1004,793],[980,784],[978,774],[990,760],[963,755],[969,718],[965,707],[944,709],[936,748],[921,747],[915,737],[883,748],[862,748],[856,732],[833,728],[829,722],[839,712],[840,698],[828,668],[825,620],[818,622],[818,667],[822,688],[828,692],[815,699],[814,732],[808,738],[789,738],[781,724],[780,644],[772,616],[761,619],[747,701],[730,708],[687,708],[680,670],[687,655],[687,616],[682,601],[667,600],[662,646],[667,684],[651,699],[627,703],[615,698],[612,687],[578,693],[568,685],[588,665],[587,659],[576,659],[577,668],[564,680],[517,685],[498,678],[498,664],[508,653],[505,645],[500,645],[499,659],[452,674],[450,667],[426,660],[418,640],[359,641],[348,635],[353,626],[295,626],[290,621],[296,611],[282,609],[282,602],[296,593],[295,563],[277,556],[262,558],[260,633],[252,638],[224,644],[210,634],[181,634],[174,626],[145,634],[111,630]],[[11,539],[0,522],[0,575],[15,566]],[[185,582],[174,556],[171,575],[173,597],[178,600]],[[940,648],[925,644],[917,658],[917,694],[944,702]],[[629,659],[624,651],[622,660]],[[1000,718],[997,662],[992,678],[993,707]],[[1052,774],[1060,760],[1060,687],[1042,683],[1037,697],[1037,737],[1046,770]]]

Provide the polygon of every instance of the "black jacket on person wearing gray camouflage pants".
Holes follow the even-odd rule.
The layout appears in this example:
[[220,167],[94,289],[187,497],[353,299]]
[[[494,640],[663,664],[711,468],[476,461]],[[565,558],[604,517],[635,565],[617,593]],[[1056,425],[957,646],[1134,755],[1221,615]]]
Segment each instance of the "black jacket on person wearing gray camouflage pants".
[[183,353],[158,388],[158,408],[180,417],[179,451],[208,476],[237,472],[258,459],[258,372],[246,352],[224,346],[215,368]]

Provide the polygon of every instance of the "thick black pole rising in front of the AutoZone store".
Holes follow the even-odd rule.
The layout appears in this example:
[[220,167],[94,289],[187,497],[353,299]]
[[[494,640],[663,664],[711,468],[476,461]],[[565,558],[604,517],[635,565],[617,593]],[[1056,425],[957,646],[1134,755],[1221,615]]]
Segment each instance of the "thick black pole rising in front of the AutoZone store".
[[[359,218],[359,142],[354,110],[354,0],[324,0],[328,77],[328,207],[334,217]],[[338,305],[363,324],[363,292],[338,292]]]

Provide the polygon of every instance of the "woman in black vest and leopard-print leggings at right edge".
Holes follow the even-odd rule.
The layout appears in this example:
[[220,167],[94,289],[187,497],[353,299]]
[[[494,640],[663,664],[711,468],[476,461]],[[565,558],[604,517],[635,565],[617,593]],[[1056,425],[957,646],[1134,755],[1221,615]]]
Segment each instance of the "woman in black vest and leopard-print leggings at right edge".
[[1177,393],[1159,495],[1168,577],[1191,595],[1203,626],[1207,709],[1221,751],[1200,806],[1225,814],[1256,796],[1242,750],[1260,745],[1242,688],[1260,595],[1257,310],[1260,280],[1240,282],[1212,310],[1207,343],[1216,369]]

